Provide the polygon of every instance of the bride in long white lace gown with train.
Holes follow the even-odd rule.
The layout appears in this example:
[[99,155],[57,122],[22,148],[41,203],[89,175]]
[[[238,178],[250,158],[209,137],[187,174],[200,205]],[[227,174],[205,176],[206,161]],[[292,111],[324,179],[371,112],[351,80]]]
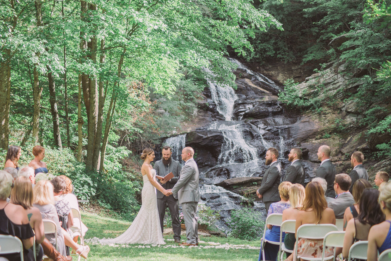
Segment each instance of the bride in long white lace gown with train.
[[[141,192],[141,208],[131,226],[124,234],[113,239],[100,239],[102,244],[165,244],[161,234],[160,219],[158,216],[158,205],[156,203],[156,189],[166,196],[167,190],[156,182],[156,171],[152,169],[151,161],[155,158],[152,149],[144,149],[141,159],[144,163],[141,167],[143,175],[143,189]],[[156,187],[156,189],[155,189]]]

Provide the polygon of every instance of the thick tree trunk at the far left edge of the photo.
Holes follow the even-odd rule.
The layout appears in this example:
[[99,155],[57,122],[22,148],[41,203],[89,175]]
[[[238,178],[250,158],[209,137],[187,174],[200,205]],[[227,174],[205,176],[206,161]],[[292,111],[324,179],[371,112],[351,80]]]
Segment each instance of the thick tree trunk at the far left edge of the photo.
[[9,56],[11,51],[5,49],[5,62],[0,63],[0,148],[8,149],[9,104],[11,94],[11,67]]

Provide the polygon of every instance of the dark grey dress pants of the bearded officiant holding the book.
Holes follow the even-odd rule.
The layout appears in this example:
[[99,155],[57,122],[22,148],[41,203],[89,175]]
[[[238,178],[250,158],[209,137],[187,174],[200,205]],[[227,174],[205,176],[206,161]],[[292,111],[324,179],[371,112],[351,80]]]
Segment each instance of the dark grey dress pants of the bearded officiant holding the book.
[[174,239],[181,239],[181,222],[179,221],[178,212],[178,200],[173,195],[163,196],[163,198],[157,198],[158,212],[160,219],[161,232],[163,233],[163,220],[166,214],[166,204],[169,206],[171,220],[172,220],[172,232],[174,232]]

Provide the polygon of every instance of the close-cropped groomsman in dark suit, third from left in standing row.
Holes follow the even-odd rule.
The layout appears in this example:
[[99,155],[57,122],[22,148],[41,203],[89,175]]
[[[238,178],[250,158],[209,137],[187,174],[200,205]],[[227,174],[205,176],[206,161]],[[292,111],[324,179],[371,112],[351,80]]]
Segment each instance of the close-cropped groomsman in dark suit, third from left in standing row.
[[317,152],[318,160],[321,161],[319,168],[316,171],[315,177],[324,178],[327,181],[326,196],[335,198],[334,180],[337,175],[335,166],[330,161],[331,149],[327,145],[320,146]]

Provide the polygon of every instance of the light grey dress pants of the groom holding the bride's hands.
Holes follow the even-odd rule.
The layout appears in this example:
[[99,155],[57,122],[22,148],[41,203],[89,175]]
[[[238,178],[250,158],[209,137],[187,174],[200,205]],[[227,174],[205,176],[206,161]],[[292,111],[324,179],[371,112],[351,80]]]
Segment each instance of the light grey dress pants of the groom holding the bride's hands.
[[186,243],[197,244],[198,243],[198,222],[195,219],[195,212],[197,211],[198,202],[183,202],[182,212],[186,225]]

